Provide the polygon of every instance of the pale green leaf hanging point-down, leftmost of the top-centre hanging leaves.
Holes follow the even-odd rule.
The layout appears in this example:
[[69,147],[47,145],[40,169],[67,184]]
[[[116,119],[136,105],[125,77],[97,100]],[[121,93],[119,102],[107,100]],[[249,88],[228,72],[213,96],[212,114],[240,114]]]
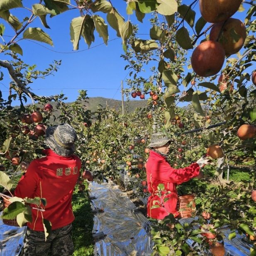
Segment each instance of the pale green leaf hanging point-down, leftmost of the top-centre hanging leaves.
[[71,37],[71,42],[73,43],[74,50],[78,50],[78,48],[79,48],[79,41],[80,41],[81,34],[83,32],[85,17],[86,16],[77,17],[71,21],[70,37]]

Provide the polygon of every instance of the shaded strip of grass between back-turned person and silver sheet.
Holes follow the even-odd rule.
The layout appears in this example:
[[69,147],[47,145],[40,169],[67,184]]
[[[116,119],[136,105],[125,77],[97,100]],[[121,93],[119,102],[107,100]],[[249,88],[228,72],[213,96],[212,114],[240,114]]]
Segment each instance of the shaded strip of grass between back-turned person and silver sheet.
[[75,251],[73,256],[93,256],[93,214],[86,190],[85,192],[81,192],[76,187],[73,193],[72,207],[75,215],[73,222],[73,243]]

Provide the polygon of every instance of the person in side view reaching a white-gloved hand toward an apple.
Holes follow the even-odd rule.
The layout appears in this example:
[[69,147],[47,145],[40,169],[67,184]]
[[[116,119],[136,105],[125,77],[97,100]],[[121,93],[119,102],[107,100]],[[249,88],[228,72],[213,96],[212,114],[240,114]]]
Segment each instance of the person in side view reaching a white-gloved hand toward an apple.
[[[149,158],[146,162],[146,176],[148,190],[151,194],[147,203],[147,215],[153,219],[163,219],[170,213],[178,217],[177,211],[178,193],[176,186],[192,178],[203,178],[200,168],[209,164],[207,156],[202,156],[196,163],[185,168],[175,169],[166,160],[169,153],[170,139],[163,133],[155,133],[151,136],[149,144]],[[157,195],[157,186],[162,183],[166,194],[161,198]],[[171,192],[168,194],[168,192]],[[164,200],[167,198],[168,200]],[[154,205],[159,207],[154,208]]]

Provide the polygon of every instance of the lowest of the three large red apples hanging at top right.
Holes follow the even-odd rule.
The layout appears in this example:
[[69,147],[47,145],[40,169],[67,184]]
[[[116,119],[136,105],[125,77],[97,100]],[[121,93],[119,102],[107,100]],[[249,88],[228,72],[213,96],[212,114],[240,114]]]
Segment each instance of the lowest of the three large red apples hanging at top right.
[[216,41],[204,41],[199,44],[191,56],[191,65],[198,76],[213,76],[217,74],[224,63],[225,51]]

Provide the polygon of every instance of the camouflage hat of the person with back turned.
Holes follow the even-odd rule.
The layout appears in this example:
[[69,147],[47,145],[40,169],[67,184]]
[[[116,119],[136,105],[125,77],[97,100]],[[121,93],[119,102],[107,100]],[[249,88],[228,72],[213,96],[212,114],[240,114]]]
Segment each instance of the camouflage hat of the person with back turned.
[[69,124],[59,124],[46,129],[46,145],[60,156],[70,156],[75,152],[76,131]]

